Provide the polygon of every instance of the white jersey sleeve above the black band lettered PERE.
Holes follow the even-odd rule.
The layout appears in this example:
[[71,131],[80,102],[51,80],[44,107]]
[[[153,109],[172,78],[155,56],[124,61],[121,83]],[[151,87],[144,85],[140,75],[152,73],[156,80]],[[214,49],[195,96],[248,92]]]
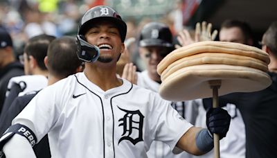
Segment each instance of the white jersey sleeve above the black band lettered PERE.
[[60,115],[62,97],[59,95],[59,89],[61,87],[50,86],[39,91],[13,119],[12,125],[15,123],[30,125],[28,128],[35,133],[37,141],[40,141],[51,130]]

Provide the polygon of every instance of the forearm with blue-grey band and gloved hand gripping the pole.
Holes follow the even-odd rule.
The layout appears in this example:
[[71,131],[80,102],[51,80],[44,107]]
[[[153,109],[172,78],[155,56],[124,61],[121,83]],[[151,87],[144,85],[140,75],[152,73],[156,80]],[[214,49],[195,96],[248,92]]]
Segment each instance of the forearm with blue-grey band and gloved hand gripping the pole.
[[226,137],[231,116],[226,110],[218,107],[208,109],[205,128],[190,128],[178,141],[177,147],[193,155],[203,155],[213,149],[213,133],[220,139]]

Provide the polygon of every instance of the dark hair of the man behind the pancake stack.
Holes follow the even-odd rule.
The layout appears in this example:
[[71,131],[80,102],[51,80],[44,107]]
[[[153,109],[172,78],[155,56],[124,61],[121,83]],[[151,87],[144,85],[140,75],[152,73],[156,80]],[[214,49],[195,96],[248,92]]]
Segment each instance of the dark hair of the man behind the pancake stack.
[[244,41],[247,42],[249,39],[253,39],[252,29],[245,21],[239,21],[235,19],[226,19],[222,25],[221,28],[233,28],[238,27],[240,30],[242,30],[242,33],[244,35]]

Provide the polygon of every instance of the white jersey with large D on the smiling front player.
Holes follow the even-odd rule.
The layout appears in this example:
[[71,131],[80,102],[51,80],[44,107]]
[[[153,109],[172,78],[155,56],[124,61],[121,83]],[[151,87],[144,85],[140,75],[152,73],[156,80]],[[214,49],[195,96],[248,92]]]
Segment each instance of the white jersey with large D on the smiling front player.
[[173,150],[192,125],[159,94],[122,80],[103,91],[84,73],[69,76],[39,91],[12,124],[33,123],[38,140],[48,133],[54,158],[147,157],[153,140]]

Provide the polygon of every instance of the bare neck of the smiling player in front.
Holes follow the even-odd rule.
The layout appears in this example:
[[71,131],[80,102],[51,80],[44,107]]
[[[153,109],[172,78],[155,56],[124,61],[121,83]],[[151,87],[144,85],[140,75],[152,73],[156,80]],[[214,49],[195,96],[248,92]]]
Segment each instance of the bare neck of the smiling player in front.
[[84,75],[98,85],[103,91],[107,91],[114,87],[118,87],[123,84],[123,82],[116,77],[116,69],[101,69],[96,67],[85,67]]

